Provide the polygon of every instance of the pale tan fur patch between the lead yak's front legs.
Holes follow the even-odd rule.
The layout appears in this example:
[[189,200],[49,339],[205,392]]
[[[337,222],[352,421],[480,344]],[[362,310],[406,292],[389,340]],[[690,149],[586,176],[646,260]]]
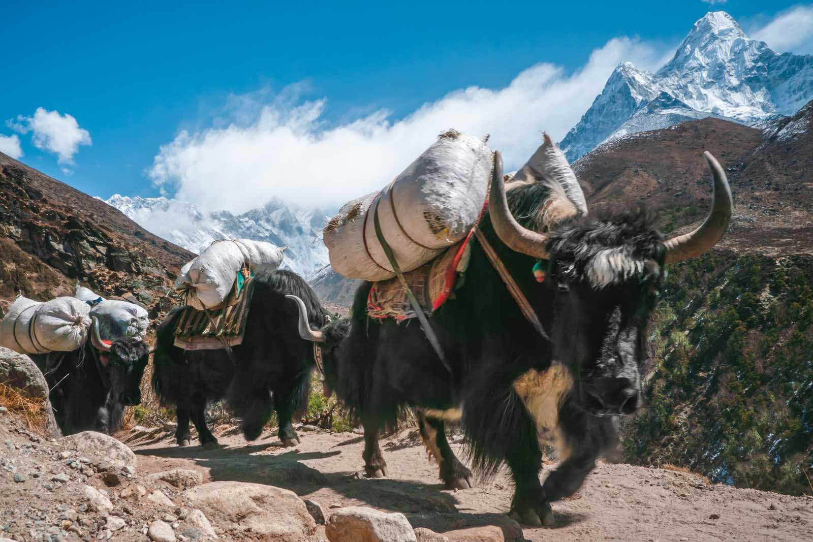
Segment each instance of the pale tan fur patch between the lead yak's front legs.
[[570,371],[558,362],[546,371],[531,369],[514,381],[515,392],[537,426],[539,443],[553,446],[562,461],[572,450],[567,448],[559,427],[559,407],[572,388]]

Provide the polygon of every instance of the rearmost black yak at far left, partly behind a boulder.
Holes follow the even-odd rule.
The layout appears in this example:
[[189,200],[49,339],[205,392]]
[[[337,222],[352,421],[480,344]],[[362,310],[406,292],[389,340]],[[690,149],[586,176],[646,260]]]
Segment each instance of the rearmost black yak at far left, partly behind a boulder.
[[141,376],[150,349],[140,339],[102,340],[93,318],[89,340],[73,352],[32,356],[46,375],[54,418],[64,435],[113,433],[124,407],[141,403]]

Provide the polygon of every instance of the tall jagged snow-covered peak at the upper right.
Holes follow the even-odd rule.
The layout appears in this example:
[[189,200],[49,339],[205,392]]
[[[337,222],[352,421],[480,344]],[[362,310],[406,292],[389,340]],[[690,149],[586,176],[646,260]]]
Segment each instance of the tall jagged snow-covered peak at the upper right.
[[603,142],[688,119],[761,125],[795,114],[811,98],[813,55],[777,54],[715,11],[694,24],[657,73],[616,67],[561,147],[573,161]]

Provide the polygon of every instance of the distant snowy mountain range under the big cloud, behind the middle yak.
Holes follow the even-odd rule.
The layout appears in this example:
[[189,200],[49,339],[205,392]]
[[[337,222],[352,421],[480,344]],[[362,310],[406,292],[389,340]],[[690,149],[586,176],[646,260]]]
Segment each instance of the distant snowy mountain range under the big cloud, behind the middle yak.
[[166,197],[126,197],[107,200],[156,235],[199,253],[218,239],[246,238],[287,246],[283,267],[309,276],[328,263],[322,244],[327,220],[320,209],[293,209],[279,199],[243,213],[226,210],[205,213],[188,202]]

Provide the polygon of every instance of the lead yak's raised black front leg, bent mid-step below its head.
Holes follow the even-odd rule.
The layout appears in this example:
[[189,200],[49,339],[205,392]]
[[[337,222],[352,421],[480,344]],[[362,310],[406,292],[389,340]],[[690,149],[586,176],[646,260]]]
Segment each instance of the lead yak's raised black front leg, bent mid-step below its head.
[[548,475],[542,489],[547,501],[559,501],[578,491],[596,459],[617,443],[610,418],[597,418],[574,409],[566,402],[559,410],[559,428],[563,431],[570,455]]

